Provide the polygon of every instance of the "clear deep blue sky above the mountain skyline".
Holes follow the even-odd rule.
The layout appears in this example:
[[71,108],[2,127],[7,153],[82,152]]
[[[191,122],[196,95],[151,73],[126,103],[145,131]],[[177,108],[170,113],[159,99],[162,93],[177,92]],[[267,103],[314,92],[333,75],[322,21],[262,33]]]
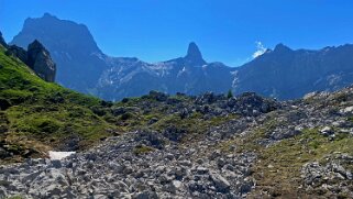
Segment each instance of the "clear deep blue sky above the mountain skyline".
[[44,12],[86,24],[108,55],[146,62],[184,56],[190,41],[207,60],[231,66],[252,58],[256,42],[353,43],[351,0],[0,0],[0,31],[9,42]]

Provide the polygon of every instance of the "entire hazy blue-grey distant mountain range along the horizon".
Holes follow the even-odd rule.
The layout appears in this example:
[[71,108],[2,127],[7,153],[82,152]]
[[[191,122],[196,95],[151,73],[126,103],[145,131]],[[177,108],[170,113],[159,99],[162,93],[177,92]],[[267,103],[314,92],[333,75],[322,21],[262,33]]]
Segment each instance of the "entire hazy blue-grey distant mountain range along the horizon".
[[27,19],[11,44],[38,40],[57,65],[57,82],[107,100],[136,97],[150,90],[198,95],[206,91],[255,91],[277,99],[296,99],[316,90],[337,90],[353,82],[353,45],[319,51],[278,44],[240,67],[207,63],[195,43],[185,57],[150,64],[110,57],[97,46],[87,26],[48,13]]

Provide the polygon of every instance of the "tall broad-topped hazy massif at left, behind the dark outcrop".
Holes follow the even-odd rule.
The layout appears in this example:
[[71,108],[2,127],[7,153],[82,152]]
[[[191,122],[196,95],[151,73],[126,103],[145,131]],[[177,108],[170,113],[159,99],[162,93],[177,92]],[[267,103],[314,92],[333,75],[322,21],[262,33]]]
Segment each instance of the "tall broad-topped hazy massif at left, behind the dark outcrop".
[[48,49],[57,65],[56,81],[67,88],[89,92],[108,67],[106,55],[86,25],[45,13],[38,19],[26,19],[11,44],[25,48],[34,40]]

